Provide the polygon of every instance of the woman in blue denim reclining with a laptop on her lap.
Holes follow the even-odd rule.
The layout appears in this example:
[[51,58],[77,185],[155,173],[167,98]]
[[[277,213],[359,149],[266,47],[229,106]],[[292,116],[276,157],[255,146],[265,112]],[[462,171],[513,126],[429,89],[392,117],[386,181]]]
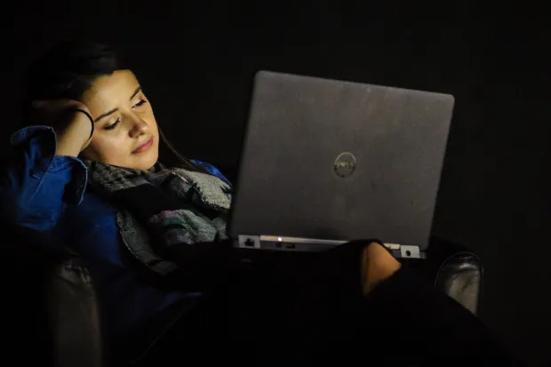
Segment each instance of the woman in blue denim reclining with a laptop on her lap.
[[[131,68],[107,46],[61,44],[31,68],[28,97],[33,126],[12,136],[2,219],[84,257],[105,301],[108,343],[125,363],[152,345],[141,363],[507,360],[472,315],[376,241],[339,246],[300,279],[236,273],[228,180],[172,148]],[[397,320],[404,305],[412,317]],[[396,350],[396,335],[411,343]]]

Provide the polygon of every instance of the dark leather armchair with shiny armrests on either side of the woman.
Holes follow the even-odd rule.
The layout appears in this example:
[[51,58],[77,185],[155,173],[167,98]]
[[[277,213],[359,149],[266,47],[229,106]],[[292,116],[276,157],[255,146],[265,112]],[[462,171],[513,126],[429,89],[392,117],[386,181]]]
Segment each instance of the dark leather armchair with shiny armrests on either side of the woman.
[[[480,259],[450,243],[433,243],[430,248],[427,260],[418,260],[412,267],[419,267],[436,289],[476,314],[483,278]],[[76,254],[52,255],[13,246],[7,251],[11,252],[12,271],[20,274],[10,274],[7,267],[4,278],[12,284],[4,288],[11,292],[14,306],[9,311],[14,318],[12,340],[28,353],[20,355],[20,362],[39,360],[42,366],[60,367],[110,365],[103,348],[100,302],[83,260]],[[19,283],[14,283],[14,276]],[[17,319],[21,315],[25,316],[22,323]]]

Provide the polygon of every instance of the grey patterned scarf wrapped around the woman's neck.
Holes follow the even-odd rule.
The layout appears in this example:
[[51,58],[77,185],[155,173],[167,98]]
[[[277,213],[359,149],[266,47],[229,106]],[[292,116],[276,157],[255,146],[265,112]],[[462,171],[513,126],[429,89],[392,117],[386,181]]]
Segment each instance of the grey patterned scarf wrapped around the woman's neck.
[[116,223],[124,245],[157,274],[169,275],[181,266],[172,256],[174,250],[181,254],[180,246],[186,246],[191,261],[202,243],[228,238],[232,189],[223,180],[162,164],[149,171],[86,164],[92,189],[119,209]]

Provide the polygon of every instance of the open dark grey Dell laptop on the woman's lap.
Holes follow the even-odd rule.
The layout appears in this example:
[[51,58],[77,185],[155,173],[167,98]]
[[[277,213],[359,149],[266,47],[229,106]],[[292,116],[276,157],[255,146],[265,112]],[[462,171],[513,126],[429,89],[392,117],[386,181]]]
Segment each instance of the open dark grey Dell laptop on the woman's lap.
[[422,258],[454,99],[260,71],[228,227],[243,248],[378,238]]

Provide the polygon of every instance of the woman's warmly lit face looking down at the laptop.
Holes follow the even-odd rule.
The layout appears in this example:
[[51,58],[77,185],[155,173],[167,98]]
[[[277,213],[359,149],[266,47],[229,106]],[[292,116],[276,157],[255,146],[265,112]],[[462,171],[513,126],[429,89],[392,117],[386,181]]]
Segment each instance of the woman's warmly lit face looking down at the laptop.
[[159,132],[136,76],[117,70],[100,76],[84,93],[94,119],[92,142],[82,156],[104,164],[148,170],[159,156]]

